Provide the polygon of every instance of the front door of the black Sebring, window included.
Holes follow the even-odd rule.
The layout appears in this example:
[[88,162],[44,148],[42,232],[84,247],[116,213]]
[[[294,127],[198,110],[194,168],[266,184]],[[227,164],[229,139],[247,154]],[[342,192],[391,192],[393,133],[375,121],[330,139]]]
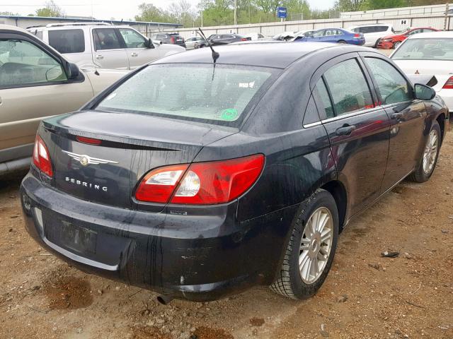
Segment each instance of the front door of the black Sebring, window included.
[[363,53],[362,57],[390,118],[389,162],[382,183],[382,191],[386,191],[418,164],[425,145],[427,112],[425,103],[415,100],[411,83],[393,64],[375,53]]

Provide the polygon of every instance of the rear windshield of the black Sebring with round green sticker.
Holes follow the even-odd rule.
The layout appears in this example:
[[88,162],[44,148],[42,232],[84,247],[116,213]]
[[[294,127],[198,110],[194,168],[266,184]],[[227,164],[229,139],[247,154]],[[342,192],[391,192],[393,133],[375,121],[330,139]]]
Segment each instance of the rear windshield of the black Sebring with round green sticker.
[[151,65],[98,104],[114,112],[231,124],[270,79],[273,69],[212,64]]

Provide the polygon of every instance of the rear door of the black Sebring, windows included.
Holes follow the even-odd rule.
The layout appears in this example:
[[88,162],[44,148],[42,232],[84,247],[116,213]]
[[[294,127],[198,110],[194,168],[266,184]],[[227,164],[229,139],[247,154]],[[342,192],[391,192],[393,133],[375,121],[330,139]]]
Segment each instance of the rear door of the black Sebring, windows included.
[[332,59],[316,71],[316,105],[321,107],[338,179],[348,191],[349,215],[381,193],[389,152],[389,117],[379,107],[357,53]]

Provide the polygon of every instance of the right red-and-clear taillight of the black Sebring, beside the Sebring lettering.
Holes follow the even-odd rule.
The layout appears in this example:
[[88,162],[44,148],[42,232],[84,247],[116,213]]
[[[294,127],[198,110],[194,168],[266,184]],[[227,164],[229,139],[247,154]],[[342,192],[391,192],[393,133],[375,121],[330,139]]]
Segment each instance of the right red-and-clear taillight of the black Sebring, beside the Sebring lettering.
[[153,203],[214,205],[245,193],[264,167],[262,154],[154,169],[140,182],[135,198]]

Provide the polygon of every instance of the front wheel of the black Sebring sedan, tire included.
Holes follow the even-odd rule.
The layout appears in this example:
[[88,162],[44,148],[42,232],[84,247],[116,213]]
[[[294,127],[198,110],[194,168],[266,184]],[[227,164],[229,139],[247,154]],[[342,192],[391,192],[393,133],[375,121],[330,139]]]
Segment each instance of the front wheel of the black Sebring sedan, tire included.
[[[435,135],[436,143],[432,144],[431,136]],[[408,179],[412,182],[427,182],[432,173],[436,168],[437,158],[439,157],[440,144],[442,142],[442,132],[440,131],[440,126],[437,121],[432,122],[430,133],[428,134],[428,140],[426,141],[425,148],[423,148],[422,157],[419,160],[417,168],[409,175]],[[430,153],[428,153],[428,147],[431,145]],[[435,152],[435,153],[433,153]],[[428,165],[425,166],[425,156],[429,157]],[[431,165],[432,164],[432,165]]]

